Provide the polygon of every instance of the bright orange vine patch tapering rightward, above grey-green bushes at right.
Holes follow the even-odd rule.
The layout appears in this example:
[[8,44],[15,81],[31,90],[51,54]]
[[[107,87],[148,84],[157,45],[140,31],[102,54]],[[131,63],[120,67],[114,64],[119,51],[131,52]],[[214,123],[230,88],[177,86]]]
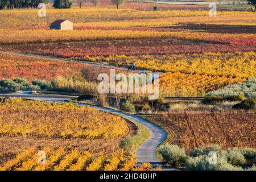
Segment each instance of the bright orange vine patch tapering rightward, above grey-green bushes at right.
[[229,84],[245,81],[246,78],[226,76],[208,76],[199,74],[164,73],[159,78],[162,96],[204,96],[205,93]]

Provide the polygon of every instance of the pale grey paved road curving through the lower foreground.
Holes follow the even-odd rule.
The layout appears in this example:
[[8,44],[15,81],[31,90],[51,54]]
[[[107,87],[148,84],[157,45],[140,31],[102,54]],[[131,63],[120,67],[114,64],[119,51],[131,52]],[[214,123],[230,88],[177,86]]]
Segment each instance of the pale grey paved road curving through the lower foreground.
[[[0,94],[0,97],[22,97],[32,100],[47,101],[47,102],[63,102],[64,100],[76,98],[74,96],[57,96],[57,95],[41,95],[41,94],[31,94],[30,91],[20,92],[20,93],[11,93],[11,94]],[[85,105],[85,104],[79,104]],[[156,156],[156,148],[163,142],[166,138],[166,132],[159,126],[154,125],[153,123],[146,121],[135,115],[123,113],[122,111],[100,107],[100,106],[91,106],[97,110],[106,111],[108,113],[119,114],[122,117],[130,119],[131,121],[138,123],[147,128],[150,132],[150,137],[144,142],[137,150],[137,160],[138,163],[150,162],[151,164],[162,164],[162,160],[158,159]]]

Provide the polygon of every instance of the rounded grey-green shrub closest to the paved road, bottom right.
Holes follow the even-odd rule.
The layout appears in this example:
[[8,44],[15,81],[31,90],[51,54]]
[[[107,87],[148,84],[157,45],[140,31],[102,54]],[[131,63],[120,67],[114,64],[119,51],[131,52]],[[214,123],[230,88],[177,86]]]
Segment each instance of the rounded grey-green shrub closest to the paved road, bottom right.
[[163,156],[163,159],[168,164],[174,165],[176,167],[184,166],[188,157],[184,148],[170,144],[164,144],[163,146],[160,146],[159,153]]

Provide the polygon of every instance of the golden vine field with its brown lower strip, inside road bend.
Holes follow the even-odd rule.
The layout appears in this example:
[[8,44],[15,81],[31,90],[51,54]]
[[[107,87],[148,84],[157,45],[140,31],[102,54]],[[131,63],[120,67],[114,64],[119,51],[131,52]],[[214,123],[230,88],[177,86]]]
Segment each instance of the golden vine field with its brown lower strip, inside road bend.
[[31,146],[109,155],[130,131],[122,118],[89,106],[11,100],[0,107],[0,163]]

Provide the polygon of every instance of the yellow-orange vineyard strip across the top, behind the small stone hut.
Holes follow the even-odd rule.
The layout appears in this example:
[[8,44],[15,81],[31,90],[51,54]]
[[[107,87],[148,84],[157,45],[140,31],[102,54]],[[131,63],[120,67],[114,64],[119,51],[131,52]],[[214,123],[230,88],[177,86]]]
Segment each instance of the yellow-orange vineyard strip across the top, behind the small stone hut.
[[[154,7],[154,6],[151,6]],[[57,10],[57,9],[47,9],[47,18],[38,17],[38,10],[10,10],[10,11],[1,11],[1,27],[17,27],[17,26],[34,26],[34,25],[48,25],[55,19],[69,19],[74,23],[80,22],[101,22],[101,21],[114,21],[114,20],[142,20],[142,19],[173,19],[175,17],[195,17],[197,19],[193,19],[194,22],[200,21],[201,17],[210,22],[209,11],[208,10],[168,10],[168,11],[145,11],[145,10],[134,10],[134,9],[108,9],[108,8],[85,8],[85,9],[73,9],[70,10]],[[10,16],[11,14],[15,14],[15,16]],[[250,11],[220,11],[218,12],[220,16],[231,16],[234,15],[252,15],[253,12]],[[233,16],[232,16],[233,15]],[[200,17],[200,18],[199,18]],[[177,21],[178,18],[174,19],[174,21],[170,21],[171,23]],[[186,20],[186,19],[185,19]],[[190,20],[189,22],[193,22]],[[224,20],[228,20],[228,18],[224,18]],[[181,19],[182,21],[182,19]],[[253,20],[249,20],[253,24]],[[154,20],[152,20],[154,22]],[[158,21],[159,22],[159,21]],[[221,21],[220,21],[221,22]],[[238,22],[238,20],[235,20]],[[255,22],[254,22],[255,24]]]

